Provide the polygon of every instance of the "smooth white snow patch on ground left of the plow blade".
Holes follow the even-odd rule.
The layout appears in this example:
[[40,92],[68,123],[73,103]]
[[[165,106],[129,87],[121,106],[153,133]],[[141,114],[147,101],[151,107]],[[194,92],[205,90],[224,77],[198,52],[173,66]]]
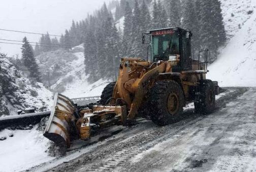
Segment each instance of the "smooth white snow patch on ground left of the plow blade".
[[36,129],[37,126],[31,130],[5,129],[0,132],[0,137],[7,137],[0,141],[1,172],[22,171],[54,159],[46,153],[49,140],[43,136],[42,131]]

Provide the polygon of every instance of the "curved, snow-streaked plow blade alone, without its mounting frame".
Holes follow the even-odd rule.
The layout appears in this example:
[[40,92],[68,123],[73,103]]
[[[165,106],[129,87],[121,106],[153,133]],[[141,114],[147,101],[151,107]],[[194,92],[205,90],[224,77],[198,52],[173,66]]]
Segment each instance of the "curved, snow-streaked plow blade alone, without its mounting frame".
[[56,93],[44,136],[60,147],[70,147],[70,123],[74,119],[74,112],[75,105],[73,101]]

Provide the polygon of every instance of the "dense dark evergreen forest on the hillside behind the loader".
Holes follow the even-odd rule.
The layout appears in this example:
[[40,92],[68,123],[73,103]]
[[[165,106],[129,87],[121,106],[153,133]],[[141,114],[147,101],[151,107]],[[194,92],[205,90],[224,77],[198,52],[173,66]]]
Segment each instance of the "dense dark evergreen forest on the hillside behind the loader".
[[[124,17],[123,28],[116,27]],[[116,79],[121,57],[146,59],[147,45],[141,44],[141,33],[155,28],[179,26],[193,32],[193,58],[208,48],[210,62],[225,45],[226,32],[219,0],[121,0],[106,4],[82,21],[72,21],[58,40],[42,36],[35,54],[56,49],[70,50],[84,44],[85,73],[94,82],[100,78]],[[45,46],[53,44],[54,46]]]

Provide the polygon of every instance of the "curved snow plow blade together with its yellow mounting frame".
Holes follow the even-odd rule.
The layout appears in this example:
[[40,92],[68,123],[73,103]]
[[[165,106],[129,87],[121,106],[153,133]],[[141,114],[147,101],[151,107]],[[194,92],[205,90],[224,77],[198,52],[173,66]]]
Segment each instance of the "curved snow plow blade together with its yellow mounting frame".
[[126,122],[126,106],[77,107],[68,97],[56,93],[44,136],[60,148],[70,148],[73,140],[88,140],[91,133]]

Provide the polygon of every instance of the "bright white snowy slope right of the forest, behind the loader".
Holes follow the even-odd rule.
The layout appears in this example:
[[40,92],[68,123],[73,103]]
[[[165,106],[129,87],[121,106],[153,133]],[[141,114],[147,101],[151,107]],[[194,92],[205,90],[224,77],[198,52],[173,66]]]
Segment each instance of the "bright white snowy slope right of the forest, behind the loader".
[[[256,86],[256,1],[222,1],[222,11],[227,33],[233,37],[209,66],[208,77],[220,86]],[[237,21],[229,22],[231,14]]]

